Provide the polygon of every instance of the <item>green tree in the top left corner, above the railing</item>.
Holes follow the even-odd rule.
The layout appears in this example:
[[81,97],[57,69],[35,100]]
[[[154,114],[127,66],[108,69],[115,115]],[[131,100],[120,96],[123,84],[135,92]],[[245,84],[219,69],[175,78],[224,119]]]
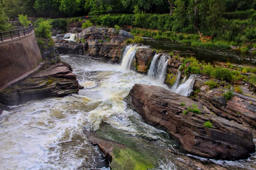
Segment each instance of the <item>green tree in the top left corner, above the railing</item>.
[[4,13],[9,18],[15,18],[18,16],[18,14],[21,14],[24,12],[24,6],[23,1],[21,0],[3,0],[3,9]]

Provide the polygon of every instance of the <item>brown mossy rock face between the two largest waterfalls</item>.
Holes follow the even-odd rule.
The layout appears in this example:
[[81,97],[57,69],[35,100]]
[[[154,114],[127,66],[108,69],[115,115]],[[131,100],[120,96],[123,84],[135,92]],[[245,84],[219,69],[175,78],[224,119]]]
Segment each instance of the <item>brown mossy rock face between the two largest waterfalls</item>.
[[149,48],[139,48],[135,54],[136,59],[136,71],[139,73],[147,73],[152,58],[156,51]]

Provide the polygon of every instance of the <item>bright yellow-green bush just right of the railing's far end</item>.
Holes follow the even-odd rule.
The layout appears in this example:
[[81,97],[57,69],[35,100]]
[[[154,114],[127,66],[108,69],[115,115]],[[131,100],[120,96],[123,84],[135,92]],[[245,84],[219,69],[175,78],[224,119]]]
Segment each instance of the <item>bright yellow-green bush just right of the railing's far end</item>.
[[40,38],[51,38],[52,37],[52,25],[50,20],[42,21],[39,23],[38,28],[35,29],[36,36]]

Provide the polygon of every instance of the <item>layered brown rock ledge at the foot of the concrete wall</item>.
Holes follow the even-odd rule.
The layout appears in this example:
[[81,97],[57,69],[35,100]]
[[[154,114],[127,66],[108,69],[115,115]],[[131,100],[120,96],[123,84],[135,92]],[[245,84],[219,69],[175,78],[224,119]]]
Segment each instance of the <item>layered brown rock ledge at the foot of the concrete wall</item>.
[[29,100],[78,93],[82,87],[71,71],[71,66],[64,62],[46,65],[33,76],[1,91],[0,102],[5,105],[19,105]]

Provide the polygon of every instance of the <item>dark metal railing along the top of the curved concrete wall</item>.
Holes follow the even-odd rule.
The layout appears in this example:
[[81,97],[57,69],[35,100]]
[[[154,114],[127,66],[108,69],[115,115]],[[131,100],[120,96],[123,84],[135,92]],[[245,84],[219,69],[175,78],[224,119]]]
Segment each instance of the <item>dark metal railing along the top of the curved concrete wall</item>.
[[26,34],[29,34],[32,31],[33,31],[33,25],[30,23],[28,24],[28,27],[26,27],[26,28],[17,29],[17,27],[16,27],[16,30],[0,32],[0,41],[3,42],[3,40],[25,36]]

